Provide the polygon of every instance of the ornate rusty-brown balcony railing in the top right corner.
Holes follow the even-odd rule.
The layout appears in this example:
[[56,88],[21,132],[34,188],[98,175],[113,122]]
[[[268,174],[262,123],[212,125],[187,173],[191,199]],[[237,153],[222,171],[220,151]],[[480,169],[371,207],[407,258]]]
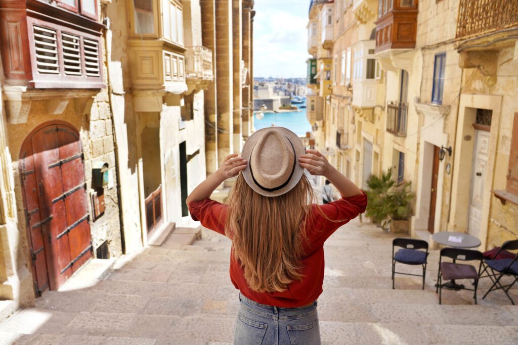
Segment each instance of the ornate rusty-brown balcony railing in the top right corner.
[[518,25],[518,0],[461,0],[456,37]]

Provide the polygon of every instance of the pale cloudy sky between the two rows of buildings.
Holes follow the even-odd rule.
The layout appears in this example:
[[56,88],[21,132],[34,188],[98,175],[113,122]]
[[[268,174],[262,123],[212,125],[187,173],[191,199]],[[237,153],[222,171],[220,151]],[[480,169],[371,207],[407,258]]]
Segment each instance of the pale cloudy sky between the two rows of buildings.
[[306,77],[309,3],[254,1],[254,77]]

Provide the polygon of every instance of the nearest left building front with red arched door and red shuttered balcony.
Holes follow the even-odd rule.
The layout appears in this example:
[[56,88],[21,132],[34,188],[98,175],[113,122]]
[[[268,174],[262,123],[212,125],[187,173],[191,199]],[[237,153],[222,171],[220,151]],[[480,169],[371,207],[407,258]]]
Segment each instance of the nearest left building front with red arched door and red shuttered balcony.
[[0,299],[16,308],[122,253],[100,4],[0,4]]

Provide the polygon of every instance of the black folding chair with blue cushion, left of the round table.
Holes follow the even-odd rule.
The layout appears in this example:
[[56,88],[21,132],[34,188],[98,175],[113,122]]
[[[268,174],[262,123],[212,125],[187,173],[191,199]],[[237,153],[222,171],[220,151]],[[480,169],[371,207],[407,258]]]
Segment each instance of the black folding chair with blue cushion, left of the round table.
[[[396,253],[394,248],[400,247]],[[424,249],[425,251],[419,250]],[[394,238],[392,241],[392,289],[394,289],[394,276],[395,274],[404,274],[407,276],[423,277],[423,290],[424,280],[426,275],[426,258],[428,257],[428,243],[422,239],[414,238]],[[422,265],[423,275],[396,272],[396,262],[405,265]]]

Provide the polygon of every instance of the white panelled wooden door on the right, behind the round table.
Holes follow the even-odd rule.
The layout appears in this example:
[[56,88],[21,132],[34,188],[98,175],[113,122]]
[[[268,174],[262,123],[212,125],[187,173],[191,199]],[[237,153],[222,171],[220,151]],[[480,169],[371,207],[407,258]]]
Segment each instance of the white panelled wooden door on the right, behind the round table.
[[471,190],[469,200],[468,233],[475,237],[480,235],[480,220],[484,202],[484,181],[487,169],[487,151],[489,148],[489,132],[475,131],[473,150],[473,169],[471,173]]

